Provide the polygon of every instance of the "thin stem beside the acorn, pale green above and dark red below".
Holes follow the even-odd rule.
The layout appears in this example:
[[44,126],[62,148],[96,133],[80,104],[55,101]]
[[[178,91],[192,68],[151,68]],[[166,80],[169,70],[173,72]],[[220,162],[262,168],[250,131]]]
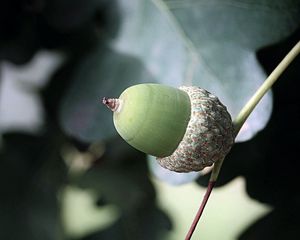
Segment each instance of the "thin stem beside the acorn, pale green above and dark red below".
[[[296,58],[296,56],[300,53],[300,41],[289,51],[289,53],[282,59],[282,61],[277,65],[277,67],[273,70],[273,72],[267,77],[264,83],[260,86],[260,88],[254,93],[254,95],[250,98],[250,100],[245,104],[242,108],[236,119],[233,121],[234,128],[235,128],[235,137],[241,130],[243,124],[262,99],[262,97],[266,94],[266,92],[272,87],[272,85],[276,82],[276,80],[281,76],[284,70],[290,65],[290,63]],[[197,215],[190,227],[190,230],[185,238],[185,240],[191,239],[193,232],[199,222],[201,215],[204,211],[208,198],[214,188],[215,182],[218,179],[222,164],[224,159],[216,162],[214,164],[214,168],[210,175],[210,180],[207,186],[206,193],[204,195],[203,201],[200,205],[200,208],[197,212]]]

